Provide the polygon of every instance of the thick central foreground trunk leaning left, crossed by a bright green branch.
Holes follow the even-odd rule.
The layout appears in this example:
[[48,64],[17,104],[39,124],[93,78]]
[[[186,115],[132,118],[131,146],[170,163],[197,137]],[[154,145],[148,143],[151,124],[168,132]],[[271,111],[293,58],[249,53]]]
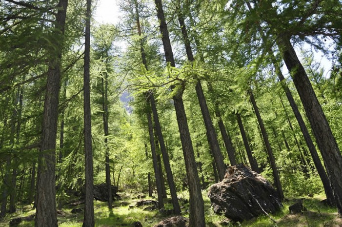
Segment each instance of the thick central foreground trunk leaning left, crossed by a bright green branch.
[[[173,57],[171,42],[167,30],[161,0],[155,0],[155,3],[157,8],[157,16],[160,21],[160,31],[164,47],[165,59],[171,67],[175,67],[175,60]],[[194,148],[192,146],[189,127],[187,124],[181,89],[175,92],[175,95],[173,96],[173,101],[176,110],[176,117],[181,136],[181,144],[184,155],[186,175],[189,184],[189,227],[204,227],[204,202],[201,194],[201,184],[197,172]]]

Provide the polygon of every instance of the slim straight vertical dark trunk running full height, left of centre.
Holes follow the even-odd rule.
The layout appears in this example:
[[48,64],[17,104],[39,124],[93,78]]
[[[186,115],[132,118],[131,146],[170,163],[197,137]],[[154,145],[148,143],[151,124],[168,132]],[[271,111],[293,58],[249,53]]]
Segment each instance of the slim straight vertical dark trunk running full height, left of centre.
[[87,0],[85,19],[84,74],[83,74],[83,111],[84,111],[84,155],[85,155],[85,198],[82,227],[94,227],[94,172],[91,138],[90,112],[90,20],[91,0]]

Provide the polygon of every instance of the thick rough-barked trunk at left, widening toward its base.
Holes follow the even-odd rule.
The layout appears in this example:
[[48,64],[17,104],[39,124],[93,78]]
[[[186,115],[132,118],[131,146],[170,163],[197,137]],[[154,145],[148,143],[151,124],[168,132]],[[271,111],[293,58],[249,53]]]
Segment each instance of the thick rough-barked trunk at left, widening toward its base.
[[57,227],[56,213],[56,135],[58,121],[58,103],[60,91],[60,67],[62,41],[68,0],[60,0],[56,16],[54,39],[55,51],[49,59],[46,83],[44,114],[42,123],[42,139],[40,145],[40,164],[37,179],[36,227]]

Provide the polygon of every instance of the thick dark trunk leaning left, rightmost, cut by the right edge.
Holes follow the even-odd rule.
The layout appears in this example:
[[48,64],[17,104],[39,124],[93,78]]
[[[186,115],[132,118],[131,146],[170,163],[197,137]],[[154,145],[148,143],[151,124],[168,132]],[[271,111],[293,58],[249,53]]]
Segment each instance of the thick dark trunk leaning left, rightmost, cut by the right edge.
[[279,40],[279,48],[282,51],[286,67],[291,72],[291,77],[301,98],[317,145],[321,150],[330,185],[334,192],[335,202],[339,209],[339,214],[342,215],[342,155],[340,149],[304,67],[290,42],[290,38],[283,36]]

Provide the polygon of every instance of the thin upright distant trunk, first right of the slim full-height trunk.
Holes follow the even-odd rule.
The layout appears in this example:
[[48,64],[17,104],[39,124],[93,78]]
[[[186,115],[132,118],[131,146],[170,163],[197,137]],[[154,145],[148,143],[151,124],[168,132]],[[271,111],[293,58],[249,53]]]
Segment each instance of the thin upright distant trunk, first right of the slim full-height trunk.
[[[108,57],[108,56],[107,56]],[[108,59],[108,58],[107,58]],[[106,60],[106,63],[107,60]],[[110,182],[110,163],[109,163],[109,147],[108,147],[108,75],[105,72],[104,78],[102,78],[102,118],[103,118],[103,130],[104,130],[104,145],[106,149],[105,154],[105,171],[106,171],[106,184],[108,190],[108,208],[112,209],[113,195]]]

